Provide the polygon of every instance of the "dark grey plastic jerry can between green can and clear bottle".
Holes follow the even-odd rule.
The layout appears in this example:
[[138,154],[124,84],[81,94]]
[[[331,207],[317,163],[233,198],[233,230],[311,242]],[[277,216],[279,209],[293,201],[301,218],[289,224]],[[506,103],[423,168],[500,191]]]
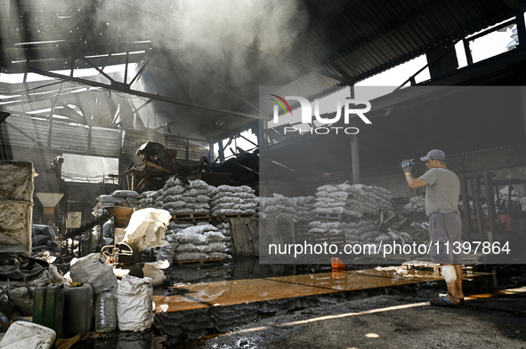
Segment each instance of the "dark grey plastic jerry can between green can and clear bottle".
[[89,332],[93,323],[93,288],[89,283],[64,286],[64,337]]

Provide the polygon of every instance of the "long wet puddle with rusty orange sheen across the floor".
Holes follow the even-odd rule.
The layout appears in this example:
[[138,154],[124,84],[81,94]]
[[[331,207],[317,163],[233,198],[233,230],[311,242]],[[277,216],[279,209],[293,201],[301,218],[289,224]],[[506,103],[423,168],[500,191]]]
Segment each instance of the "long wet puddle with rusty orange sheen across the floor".
[[[404,274],[396,267],[368,267],[335,274],[320,266],[260,266],[256,259],[174,266],[166,275],[175,287],[154,292],[158,313],[153,329],[86,340],[72,348],[198,347],[194,342],[198,338],[214,337],[263,317],[385,294],[432,297],[445,290],[440,274],[432,271]],[[481,271],[490,273],[465,275],[466,294],[494,290],[498,273],[506,269]],[[244,345],[240,347],[251,347],[248,342]]]

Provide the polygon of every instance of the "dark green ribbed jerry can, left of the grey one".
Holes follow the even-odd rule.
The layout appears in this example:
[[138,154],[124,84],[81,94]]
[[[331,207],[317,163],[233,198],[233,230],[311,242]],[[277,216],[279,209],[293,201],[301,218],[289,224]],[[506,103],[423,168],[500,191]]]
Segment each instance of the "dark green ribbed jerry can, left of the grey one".
[[63,286],[44,286],[35,289],[35,304],[33,305],[33,322],[53,329],[57,337],[62,334],[64,313]]

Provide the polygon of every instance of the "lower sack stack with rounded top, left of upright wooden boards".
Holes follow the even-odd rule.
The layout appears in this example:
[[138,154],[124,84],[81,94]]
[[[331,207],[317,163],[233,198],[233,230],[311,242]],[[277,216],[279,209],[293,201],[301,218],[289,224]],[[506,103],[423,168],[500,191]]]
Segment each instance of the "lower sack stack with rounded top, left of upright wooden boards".
[[175,249],[174,260],[224,259],[227,240],[215,226],[208,223],[189,226],[174,234],[179,245]]

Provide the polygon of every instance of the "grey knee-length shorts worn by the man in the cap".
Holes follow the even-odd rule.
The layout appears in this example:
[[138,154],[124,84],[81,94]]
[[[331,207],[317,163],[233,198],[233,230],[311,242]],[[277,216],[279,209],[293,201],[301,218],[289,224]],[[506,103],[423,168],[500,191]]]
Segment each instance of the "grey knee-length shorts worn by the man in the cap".
[[453,253],[454,242],[462,241],[462,222],[458,212],[434,212],[429,216],[431,260],[440,264],[462,264],[462,254]]

